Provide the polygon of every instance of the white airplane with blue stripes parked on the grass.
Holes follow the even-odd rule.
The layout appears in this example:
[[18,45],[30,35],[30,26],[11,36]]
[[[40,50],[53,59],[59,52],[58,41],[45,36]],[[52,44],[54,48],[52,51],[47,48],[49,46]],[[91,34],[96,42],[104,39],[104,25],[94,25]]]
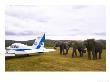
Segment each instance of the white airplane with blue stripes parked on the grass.
[[43,33],[40,37],[37,37],[32,46],[27,46],[21,43],[13,43],[11,46],[6,48],[5,56],[24,55],[40,52],[51,52],[56,51],[55,49],[46,49],[44,47],[45,34]]

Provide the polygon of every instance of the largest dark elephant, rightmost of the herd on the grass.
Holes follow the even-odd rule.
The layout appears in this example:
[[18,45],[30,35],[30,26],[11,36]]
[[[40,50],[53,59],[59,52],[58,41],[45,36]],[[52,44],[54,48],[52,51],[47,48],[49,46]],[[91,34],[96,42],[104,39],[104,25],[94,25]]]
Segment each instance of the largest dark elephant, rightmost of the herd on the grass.
[[99,59],[101,59],[102,54],[102,44],[95,39],[87,39],[84,41],[84,46],[87,48],[88,59],[91,59],[91,54],[93,56],[93,60],[97,59],[97,54],[99,53]]

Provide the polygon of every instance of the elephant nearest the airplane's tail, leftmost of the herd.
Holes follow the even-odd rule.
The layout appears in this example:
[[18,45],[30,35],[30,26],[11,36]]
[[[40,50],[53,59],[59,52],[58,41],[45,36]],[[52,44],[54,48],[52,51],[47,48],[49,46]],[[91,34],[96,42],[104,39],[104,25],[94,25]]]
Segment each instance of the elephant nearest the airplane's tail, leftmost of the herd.
[[[67,55],[70,45],[68,42],[58,42],[56,43],[55,47],[60,47],[60,54]],[[66,53],[65,53],[65,50],[66,50]]]

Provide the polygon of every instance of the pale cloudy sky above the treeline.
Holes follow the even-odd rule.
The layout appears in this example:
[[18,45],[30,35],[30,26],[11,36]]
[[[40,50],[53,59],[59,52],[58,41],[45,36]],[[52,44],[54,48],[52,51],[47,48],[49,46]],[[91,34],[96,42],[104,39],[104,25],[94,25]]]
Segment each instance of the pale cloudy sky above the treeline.
[[10,5],[5,39],[31,39],[42,32],[52,40],[106,39],[105,23],[103,5]]

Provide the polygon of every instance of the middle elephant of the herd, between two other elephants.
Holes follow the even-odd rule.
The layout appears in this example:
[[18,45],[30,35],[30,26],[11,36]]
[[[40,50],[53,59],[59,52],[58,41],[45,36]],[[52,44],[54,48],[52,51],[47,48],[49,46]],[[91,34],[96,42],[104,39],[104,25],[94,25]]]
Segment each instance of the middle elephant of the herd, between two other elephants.
[[74,54],[77,56],[77,52],[76,50],[78,50],[79,54],[80,54],[80,57],[83,57],[83,53],[86,52],[85,50],[85,46],[83,46],[83,42],[74,42],[72,43],[72,57],[74,57]]

